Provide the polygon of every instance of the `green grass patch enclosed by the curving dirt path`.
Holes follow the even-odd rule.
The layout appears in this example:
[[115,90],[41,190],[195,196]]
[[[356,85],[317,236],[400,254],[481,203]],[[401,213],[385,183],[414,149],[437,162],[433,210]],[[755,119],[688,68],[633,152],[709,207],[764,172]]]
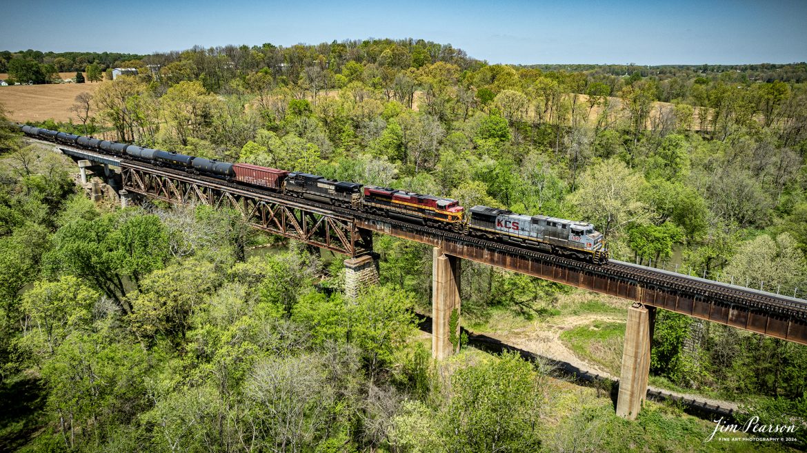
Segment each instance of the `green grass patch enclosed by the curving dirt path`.
[[580,359],[597,364],[614,376],[621,370],[624,338],[624,322],[604,321],[577,326],[560,335],[561,341]]

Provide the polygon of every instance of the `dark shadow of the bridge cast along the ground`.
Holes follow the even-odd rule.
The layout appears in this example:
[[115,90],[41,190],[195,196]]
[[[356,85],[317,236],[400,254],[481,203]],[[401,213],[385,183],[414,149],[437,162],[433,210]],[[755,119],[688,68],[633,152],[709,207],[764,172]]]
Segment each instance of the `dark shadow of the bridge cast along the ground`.
[[[424,314],[417,314],[418,328],[426,333],[432,333],[432,317]],[[619,395],[619,380],[613,380],[607,376],[600,376],[599,374],[582,370],[575,367],[568,362],[562,360],[552,359],[544,355],[539,355],[531,351],[526,351],[519,347],[514,347],[506,343],[502,343],[499,339],[492,338],[483,334],[474,334],[466,329],[462,329],[468,335],[468,344],[477,347],[483,351],[501,354],[503,352],[515,352],[521,355],[521,358],[529,360],[533,363],[541,363],[544,367],[550,368],[550,376],[558,377],[561,379],[570,380],[575,384],[585,385],[596,389],[597,396],[608,395],[611,398],[613,409],[617,409],[617,396]],[[727,420],[734,420],[734,409],[721,407],[719,405],[709,404],[706,401],[699,401],[696,398],[684,398],[678,395],[664,392],[663,390],[648,389],[648,399],[654,401],[671,401],[679,405],[681,409],[687,414],[695,417],[704,418],[713,421],[714,417],[724,417]]]

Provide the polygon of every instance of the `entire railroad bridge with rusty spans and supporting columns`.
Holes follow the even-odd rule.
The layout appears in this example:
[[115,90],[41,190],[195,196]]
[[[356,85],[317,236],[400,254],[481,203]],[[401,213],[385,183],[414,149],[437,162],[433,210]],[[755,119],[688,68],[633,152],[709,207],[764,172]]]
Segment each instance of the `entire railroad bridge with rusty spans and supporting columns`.
[[[86,150],[57,148],[76,160],[93,159],[94,153]],[[459,268],[463,259],[633,301],[628,309],[617,400],[617,414],[625,418],[635,418],[646,397],[657,308],[807,344],[807,301],[800,299],[616,260],[602,266],[569,260],[516,244],[470,238],[134,160],[109,162],[108,156],[98,154],[96,161],[119,166],[124,206],[136,193],[174,204],[202,203],[238,210],[261,230],[348,256],[347,293],[357,291],[366,281],[378,280],[372,233],[433,246],[432,352],[436,359],[454,353],[449,318],[461,308]]]

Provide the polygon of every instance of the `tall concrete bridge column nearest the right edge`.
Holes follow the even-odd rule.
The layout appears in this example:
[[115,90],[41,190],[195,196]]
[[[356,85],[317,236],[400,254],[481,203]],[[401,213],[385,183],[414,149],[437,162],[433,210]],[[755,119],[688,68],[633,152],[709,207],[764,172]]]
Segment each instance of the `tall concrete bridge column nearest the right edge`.
[[617,415],[622,418],[635,419],[645,402],[654,322],[655,307],[646,307],[637,302],[628,309],[617,397]]

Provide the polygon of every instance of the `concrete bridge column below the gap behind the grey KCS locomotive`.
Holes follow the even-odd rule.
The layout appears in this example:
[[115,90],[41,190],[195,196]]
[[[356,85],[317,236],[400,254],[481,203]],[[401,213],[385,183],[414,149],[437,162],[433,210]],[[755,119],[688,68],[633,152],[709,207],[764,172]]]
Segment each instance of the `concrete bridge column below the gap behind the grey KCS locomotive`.
[[437,360],[448,358],[456,352],[451,343],[451,314],[456,313],[457,324],[454,335],[459,341],[460,326],[460,259],[443,253],[441,247],[434,247],[432,263],[432,357]]

